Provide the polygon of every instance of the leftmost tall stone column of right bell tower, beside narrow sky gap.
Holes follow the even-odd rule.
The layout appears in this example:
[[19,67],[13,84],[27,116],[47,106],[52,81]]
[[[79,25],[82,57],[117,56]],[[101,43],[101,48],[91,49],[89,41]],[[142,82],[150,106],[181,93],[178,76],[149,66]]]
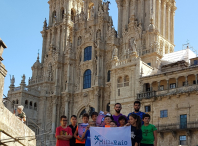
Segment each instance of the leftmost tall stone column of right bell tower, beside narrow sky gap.
[[116,0],[117,6],[118,6],[118,36],[122,37],[122,13],[123,13],[123,7],[122,7],[122,0]]

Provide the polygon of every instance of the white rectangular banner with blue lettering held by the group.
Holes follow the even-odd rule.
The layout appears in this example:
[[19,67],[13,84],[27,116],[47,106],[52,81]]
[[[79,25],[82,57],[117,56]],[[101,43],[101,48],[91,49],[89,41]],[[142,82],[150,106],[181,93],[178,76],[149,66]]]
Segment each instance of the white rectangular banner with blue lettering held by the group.
[[131,126],[90,127],[91,146],[131,146]]

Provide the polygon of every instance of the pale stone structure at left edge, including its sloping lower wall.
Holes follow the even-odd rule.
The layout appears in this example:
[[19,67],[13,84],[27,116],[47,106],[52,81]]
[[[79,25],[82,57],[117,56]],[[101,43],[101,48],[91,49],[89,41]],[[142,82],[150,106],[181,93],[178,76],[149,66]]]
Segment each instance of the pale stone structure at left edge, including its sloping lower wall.
[[[22,123],[3,104],[4,78],[7,70],[3,65],[2,54],[7,48],[0,39],[0,145],[1,146],[36,146],[35,133]],[[9,99],[7,99],[9,101]],[[13,110],[13,109],[12,109]]]

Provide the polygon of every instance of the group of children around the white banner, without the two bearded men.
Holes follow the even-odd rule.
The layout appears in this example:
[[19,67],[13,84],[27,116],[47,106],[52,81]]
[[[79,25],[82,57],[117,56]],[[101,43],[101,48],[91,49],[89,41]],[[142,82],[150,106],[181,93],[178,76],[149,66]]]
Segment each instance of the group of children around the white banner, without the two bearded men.
[[[56,129],[56,146],[91,146],[90,127],[96,127],[98,113],[93,112],[91,121],[89,115],[83,114],[82,121],[89,124],[81,137],[78,135],[77,117],[71,116],[71,125],[67,126],[67,117],[61,116],[61,126]],[[143,121],[143,125],[142,125]],[[121,115],[114,121],[113,116],[106,115],[104,127],[124,127],[131,125],[132,146],[157,146],[157,129],[149,124],[150,115],[144,114],[141,119],[137,114],[130,114],[128,117]],[[64,131],[64,132],[62,132]]]

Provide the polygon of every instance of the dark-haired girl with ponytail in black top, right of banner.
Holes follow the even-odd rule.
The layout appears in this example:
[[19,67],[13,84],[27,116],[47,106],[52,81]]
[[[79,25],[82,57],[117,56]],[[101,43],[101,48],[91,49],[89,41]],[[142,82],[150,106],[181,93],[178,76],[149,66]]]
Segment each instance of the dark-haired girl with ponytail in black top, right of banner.
[[129,115],[129,123],[127,126],[131,125],[131,140],[132,140],[132,146],[139,146],[141,140],[142,140],[142,121],[140,119],[140,116],[136,114],[130,114]]

